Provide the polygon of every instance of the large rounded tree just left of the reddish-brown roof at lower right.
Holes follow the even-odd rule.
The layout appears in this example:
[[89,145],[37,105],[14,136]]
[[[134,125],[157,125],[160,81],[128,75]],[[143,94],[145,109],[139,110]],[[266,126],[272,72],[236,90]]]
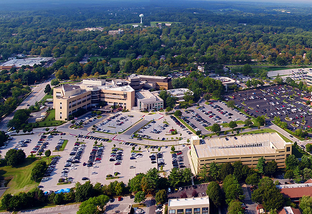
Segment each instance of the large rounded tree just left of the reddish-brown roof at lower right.
[[252,200],[262,203],[266,210],[279,209],[283,204],[283,195],[276,188],[272,179],[264,177],[260,180],[258,189],[252,193]]

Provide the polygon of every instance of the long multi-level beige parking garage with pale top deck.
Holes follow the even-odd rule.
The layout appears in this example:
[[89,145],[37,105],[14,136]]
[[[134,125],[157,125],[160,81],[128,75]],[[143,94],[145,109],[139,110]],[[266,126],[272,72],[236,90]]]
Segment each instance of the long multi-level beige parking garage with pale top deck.
[[204,164],[242,161],[255,167],[258,159],[275,160],[278,167],[285,167],[286,157],[292,154],[292,143],[285,142],[277,133],[241,135],[202,140],[191,137],[191,161],[195,174]]

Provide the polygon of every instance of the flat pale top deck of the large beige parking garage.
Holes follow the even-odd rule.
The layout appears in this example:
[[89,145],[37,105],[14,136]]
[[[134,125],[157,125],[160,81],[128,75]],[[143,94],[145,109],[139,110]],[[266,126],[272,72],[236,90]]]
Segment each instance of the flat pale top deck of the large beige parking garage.
[[275,153],[275,149],[283,149],[289,144],[277,133],[242,135],[227,139],[208,138],[204,144],[194,145],[198,158],[270,154]]

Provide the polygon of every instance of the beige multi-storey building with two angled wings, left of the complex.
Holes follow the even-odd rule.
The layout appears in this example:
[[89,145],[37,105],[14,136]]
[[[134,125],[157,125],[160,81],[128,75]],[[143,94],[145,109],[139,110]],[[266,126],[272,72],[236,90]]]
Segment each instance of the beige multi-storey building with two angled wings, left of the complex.
[[64,121],[80,108],[90,109],[100,101],[131,110],[135,106],[135,90],[119,82],[85,79],[76,85],[62,85],[53,89],[55,119]]

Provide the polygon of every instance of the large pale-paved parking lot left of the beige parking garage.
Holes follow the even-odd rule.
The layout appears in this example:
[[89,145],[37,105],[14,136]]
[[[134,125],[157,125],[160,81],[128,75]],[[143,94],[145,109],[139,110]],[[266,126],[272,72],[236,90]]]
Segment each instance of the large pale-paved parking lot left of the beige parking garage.
[[[90,179],[90,181],[94,184],[96,182],[109,184],[112,180],[106,179],[107,175],[114,175],[116,172],[119,177],[116,180],[127,183],[128,180],[135,177],[137,173],[146,173],[151,168],[157,168],[157,163],[152,163],[149,158],[151,154],[158,152],[158,148],[154,148],[154,146],[152,148],[149,146],[130,144],[126,142],[117,143],[117,141],[108,142],[99,140],[98,145],[95,145],[94,143],[96,139],[91,139],[91,136],[89,139],[84,137],[78,138],[78,142],[82,142],[82,144],[78,144],[75,141],[75,139],[77,140],[75,136],[69,135],[69,137],[73,137],[73,139],[69,141],[63,152],[59,152],[61,157],[59,162],[54,167],[54,170],[51,171],[50,177],[48,177],[47,180],[40,182],[44,191],[56,191],[61,188],[71,188],[76,182],[84,183],[88,179]],[[100,143],[102,143],[102,145],[99,145]],[[114,143],[116,144],[116,150],[112,149]],[[81,145],[83,145],[83,147]],[[135,150],[139,152],[131,153],[133,146],[135,146]],[[139,147],[141,147],[140,150]],[[98,153],[99,149],[102,151],[101,154]],[[184,145],[177,145],[176,150],[180,150],[182,152],[183,161],[181,163],[183,163],[183,166],[190,167],[190,163],[187,158],[188,147]],[[80,154],[79,157],[77,157],[78,152]],[[120,154],[118,154],[119,152]],[[168,175],[173,168],[172,155],[170,153],[171,147],[163,146],[161,147],[160,152],[163,156],[163,171],[166,171]],[[57,153],[54,152],[54,154]],[[120,155],[120,158],[117,158],[117,155]],[[77,162],[75,162],[76,157]],[[113,160],[110,161],[112,158]],[[91,159],[93,160],[93,163],[88,167]],[[72,163],[70,165],[66,165],[68,164],[67,160],[71,160]],[[72,160],[74,160],[74,162]],[[158,170],[160,170],[160,165]],[[59,178],[69,178],[72,183],[59,186],[57,185],[59,183]],[[87,179],[82,180],[82,178]]]

